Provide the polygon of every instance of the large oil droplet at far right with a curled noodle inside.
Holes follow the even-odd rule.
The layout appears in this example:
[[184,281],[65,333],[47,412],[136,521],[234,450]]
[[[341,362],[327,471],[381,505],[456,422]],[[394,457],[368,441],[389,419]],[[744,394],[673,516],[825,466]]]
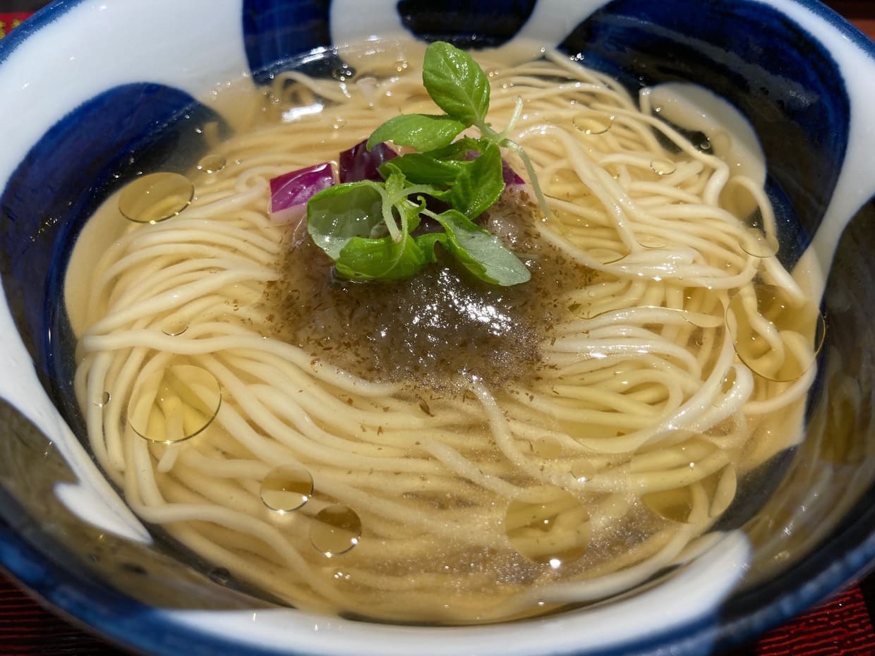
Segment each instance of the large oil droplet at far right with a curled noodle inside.
[[787,290],[754,283],[726,309],[726,325],[739,359],[767,380],[797,380],[814,364],[826,324],[816,305]]

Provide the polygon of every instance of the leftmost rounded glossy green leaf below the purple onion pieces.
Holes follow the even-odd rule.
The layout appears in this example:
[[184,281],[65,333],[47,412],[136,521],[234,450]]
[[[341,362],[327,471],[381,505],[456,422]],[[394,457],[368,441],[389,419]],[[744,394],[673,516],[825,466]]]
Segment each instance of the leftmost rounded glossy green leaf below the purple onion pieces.
[[383,225],[381,187],[370,180],[334,185],[307,203],[307,232],[335,262],[354,237],[374,237]]

